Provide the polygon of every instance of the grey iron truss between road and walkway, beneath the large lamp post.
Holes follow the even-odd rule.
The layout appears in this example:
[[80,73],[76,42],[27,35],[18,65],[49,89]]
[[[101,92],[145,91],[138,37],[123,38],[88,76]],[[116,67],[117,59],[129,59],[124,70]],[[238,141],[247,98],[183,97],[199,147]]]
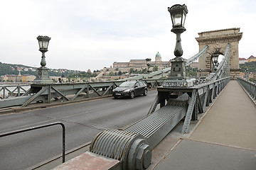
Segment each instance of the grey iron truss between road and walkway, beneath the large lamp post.
[[157,104],[161,103],[161,96],[168,96],[169,94],[188,94],[188,110],[186,111],[186,118],[183,123],[182,133],[187,133],[191,120],[198,120],[198,113],[206,111],[206,106],[213,102],[213,98],[220,94],[226,84],[230,81],[230,77],[218,79],[215,81],[209,81],[197,86],[188,88],[179,87],[159,87],[158,97],[156,97],[154,104],[149,110],[149,114],[154,111]]

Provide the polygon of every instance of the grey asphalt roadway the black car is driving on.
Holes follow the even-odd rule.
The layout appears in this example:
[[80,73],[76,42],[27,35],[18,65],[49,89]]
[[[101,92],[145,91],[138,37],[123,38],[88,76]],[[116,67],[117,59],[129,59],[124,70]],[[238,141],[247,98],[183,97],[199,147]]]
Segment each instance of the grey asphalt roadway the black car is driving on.
[[[0,115],[0,134],[56,121],[66,128],[66,150],[90,142],[102,128],[122,128],[144,118],[156,96],[95,101]],[[92,127],[92,125],[94,127]],[[30,169],[62,153],[60,125],[0,138],[0,169]]]

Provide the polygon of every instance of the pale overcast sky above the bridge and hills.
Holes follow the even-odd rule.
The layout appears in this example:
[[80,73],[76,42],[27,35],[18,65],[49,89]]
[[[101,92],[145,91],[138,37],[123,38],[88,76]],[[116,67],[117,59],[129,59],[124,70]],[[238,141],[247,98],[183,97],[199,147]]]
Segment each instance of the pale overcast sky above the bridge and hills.
[[183,57],[198,52],[198,33],[240,28],[239,57],[256,56],[255,0],[6,0],[0,5],[0,62],[40,67],[38,35],[51,40],[46,67],[102,69],[113,62],[174,58],[167,7],[186,4]]

